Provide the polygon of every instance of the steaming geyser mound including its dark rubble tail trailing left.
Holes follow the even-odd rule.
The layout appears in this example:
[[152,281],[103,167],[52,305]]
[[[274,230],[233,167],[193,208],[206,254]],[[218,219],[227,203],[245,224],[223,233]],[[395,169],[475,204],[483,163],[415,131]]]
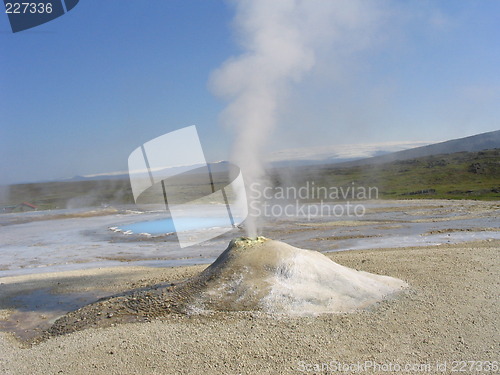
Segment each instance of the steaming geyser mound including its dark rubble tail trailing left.
[[315,315],[362,309],[400,291],[398,279],[341,266],[264,237],[239,238],[198,276],[99,300],[59,318],[40,339],[171,313],[262,311]]

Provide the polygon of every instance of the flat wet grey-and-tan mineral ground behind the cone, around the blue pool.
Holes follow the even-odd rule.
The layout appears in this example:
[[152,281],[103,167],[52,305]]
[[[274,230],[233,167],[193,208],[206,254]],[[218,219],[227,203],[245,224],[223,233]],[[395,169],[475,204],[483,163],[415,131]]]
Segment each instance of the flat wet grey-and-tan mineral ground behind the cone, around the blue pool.
[[[265,218],[264,235],[322,252],[425,246],[500,238],[495,202],[418,200],[358,202],[363,217],[279,215]],[[342,204],[335,205],[341,207]],[[317,205],[309,205],[311,212]],[[334,206],[334,205],[332,205]],[[277,214],[280,207],[273,205]],[[202,208],[201,208],[202,209]],[[340,211],[339,211],[340,212]],[[306,211],[307,213],[307,211]],[[272,212],[269,212],[271,216]],[[175,236],[125,235],[110,227],[157,220],[163,213],[126,209],[58,210],[0,215],[0,277],[96,267],[209,264],[234,237],[235,229],[192,248]]]

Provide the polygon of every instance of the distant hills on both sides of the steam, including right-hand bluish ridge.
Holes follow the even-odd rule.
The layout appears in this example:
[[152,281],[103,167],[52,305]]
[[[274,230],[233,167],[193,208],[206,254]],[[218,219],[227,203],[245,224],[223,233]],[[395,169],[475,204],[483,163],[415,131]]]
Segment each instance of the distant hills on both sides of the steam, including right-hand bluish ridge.
[[[275,167],[270,173],[276,185],[376,186],[379,198],[500,199],[500,131],[346,163]],[[39,209],[134,203],[128,174],[122,173],[16,184],[3,187],[0,197],[0,208],[22,202]]]

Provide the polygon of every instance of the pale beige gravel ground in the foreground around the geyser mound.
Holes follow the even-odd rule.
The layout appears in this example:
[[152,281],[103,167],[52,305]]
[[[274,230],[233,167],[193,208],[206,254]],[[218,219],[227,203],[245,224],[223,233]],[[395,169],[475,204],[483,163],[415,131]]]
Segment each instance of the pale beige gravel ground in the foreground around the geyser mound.
[[[494,373],[486,367],[465,369],[460,361],[486,366],[486,361],[500,360],[499,247],[495,240],[328,254],[342,265],[410,285],[393,300],[351,314],[285,318],[255,312],[173,313],[141,323],[114,322],[33,345],[1,333],[0,373],[346,373],[336,368],[339,363],[353,364],[351,370],[359,373]],[[99,290],[109,295],[176,283],[202,269],[123,268],[3,278],[0,319],[9,319],[7,302],[20,290],[47,286],[52,293]]]

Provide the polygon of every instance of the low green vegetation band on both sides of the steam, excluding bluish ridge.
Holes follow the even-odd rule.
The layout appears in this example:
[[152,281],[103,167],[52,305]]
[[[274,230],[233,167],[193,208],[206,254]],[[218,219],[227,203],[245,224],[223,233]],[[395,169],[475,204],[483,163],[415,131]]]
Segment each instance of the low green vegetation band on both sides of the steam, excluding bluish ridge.
[[[384,164],[354,167],[335,165],[308,166],[291,171],[297,187],[314,183],[316,187],[376,187],[381,199],[500,199],[500,149],[458,152]],[[274,173],[275,186],[285,183]],[[217,188],[225,178],[217,178]],[[179,189],[198,198],[208,186]],[[197,192],[197,191],[200,192]],[[19,184],[9,187],[0,207],[29,202],[39,209],[132,204],[134,199],[127,180],[88,180]],[[203,194],[201,194],[203,195]],[[190,197],[185,196],[183,200]],[[1,212],[1,211],[0,211]]]

